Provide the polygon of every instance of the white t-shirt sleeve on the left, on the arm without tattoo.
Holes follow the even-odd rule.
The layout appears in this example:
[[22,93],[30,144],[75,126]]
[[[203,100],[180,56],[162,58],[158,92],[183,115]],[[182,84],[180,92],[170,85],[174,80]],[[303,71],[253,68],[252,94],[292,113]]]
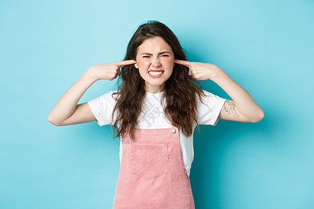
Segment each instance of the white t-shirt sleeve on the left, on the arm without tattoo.
[[100,95],[98,98],[94,98],[87,102],[91,112],[96,118],[96,122],[100,126],[111,123],[112,111],[116,102],[116,100],[112,98],[112,93],[114,93],[114,91]]

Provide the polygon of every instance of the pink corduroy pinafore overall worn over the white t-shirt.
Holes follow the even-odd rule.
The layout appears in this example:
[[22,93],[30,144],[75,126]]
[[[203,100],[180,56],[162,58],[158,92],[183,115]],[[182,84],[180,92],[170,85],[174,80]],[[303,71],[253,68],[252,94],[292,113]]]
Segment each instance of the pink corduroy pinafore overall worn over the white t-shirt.
[[195,208],[181,157],[179,130],[136,129],[126,134],[112,208]]

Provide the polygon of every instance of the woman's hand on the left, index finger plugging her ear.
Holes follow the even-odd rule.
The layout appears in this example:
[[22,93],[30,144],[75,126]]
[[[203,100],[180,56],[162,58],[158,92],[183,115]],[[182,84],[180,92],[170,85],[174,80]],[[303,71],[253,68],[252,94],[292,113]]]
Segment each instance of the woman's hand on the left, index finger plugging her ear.
[[134,63],[136,63],[136,61],[131,59],[126,61],[97,64],[91,66],[89,70],[91,70],[91,74],[97,81],[100,79],[107,79],[112,81],[113,79],[116,79],[118,76],[121,75],[121,67],[125,65],[132,65]]

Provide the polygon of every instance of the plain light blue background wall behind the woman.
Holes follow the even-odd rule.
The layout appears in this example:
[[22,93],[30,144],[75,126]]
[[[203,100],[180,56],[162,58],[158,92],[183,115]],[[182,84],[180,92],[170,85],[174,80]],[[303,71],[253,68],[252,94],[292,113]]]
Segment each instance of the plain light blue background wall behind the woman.
[[[91,65],[121,61],[147,20],[169,26],[189,61],[220,66],[265,113],[195,130],[196,208],[314,208],[313,11],[311,0],[1,0],[0,208],[111,208],[110,126],[56,127],[47,116]],[[115,83],[96,82],[80,103]]]

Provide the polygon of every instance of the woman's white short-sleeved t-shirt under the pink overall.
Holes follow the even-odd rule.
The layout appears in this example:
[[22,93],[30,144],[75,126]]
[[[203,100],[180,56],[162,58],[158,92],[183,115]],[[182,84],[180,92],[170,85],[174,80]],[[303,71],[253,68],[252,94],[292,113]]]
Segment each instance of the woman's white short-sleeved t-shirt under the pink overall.
[[[103,95],[100,95],[98,98],[94,98],[93,100],[89,100],[87,103],[91,108],[92,113],[96,118],[96,122],[98,125],[109,125],[111,123],[112,111],[114,108],[114,104],[116,100],[112,98],[112,93],[116,91],[110,91]],[[216,125],[218,122],[218,116],[220,114],[220,110],[223,107],[225,99],[218,97],[212,93],[204,91],[206,97],[203,98],[203,104],[197,98],[197,122],[200,125]],[[144,106],[143,112],[145,114],[140,115],[140,123],[137,128],[167,128],[171,127],[171,123],[167,121],[165,115],[163,114],[163,107],[161,106],[161,95],[160,93],[149,93],[147,92],[144,97]],[[165,105],[165,102],[164,102]],[[114,116],[115,117],[115,116]],[[195,124],[196,127],[196,124]],[[195,128],[194,127],[194,128]],[[193,130],[194,130],[193,128]],[[193,162],[194,157],[194,149],[193,149],[193,134],[190,137],[186,137],[184,134],[179,132],[180,136],[180,145],[181,145],[181,155],[182,160],[184,162],[184,166],[186,168],[186,172],[188,176],[190,176],[190,167]],[[122,156],[122,143],[120,138],[120,164],[121,164],[121,156]]]

